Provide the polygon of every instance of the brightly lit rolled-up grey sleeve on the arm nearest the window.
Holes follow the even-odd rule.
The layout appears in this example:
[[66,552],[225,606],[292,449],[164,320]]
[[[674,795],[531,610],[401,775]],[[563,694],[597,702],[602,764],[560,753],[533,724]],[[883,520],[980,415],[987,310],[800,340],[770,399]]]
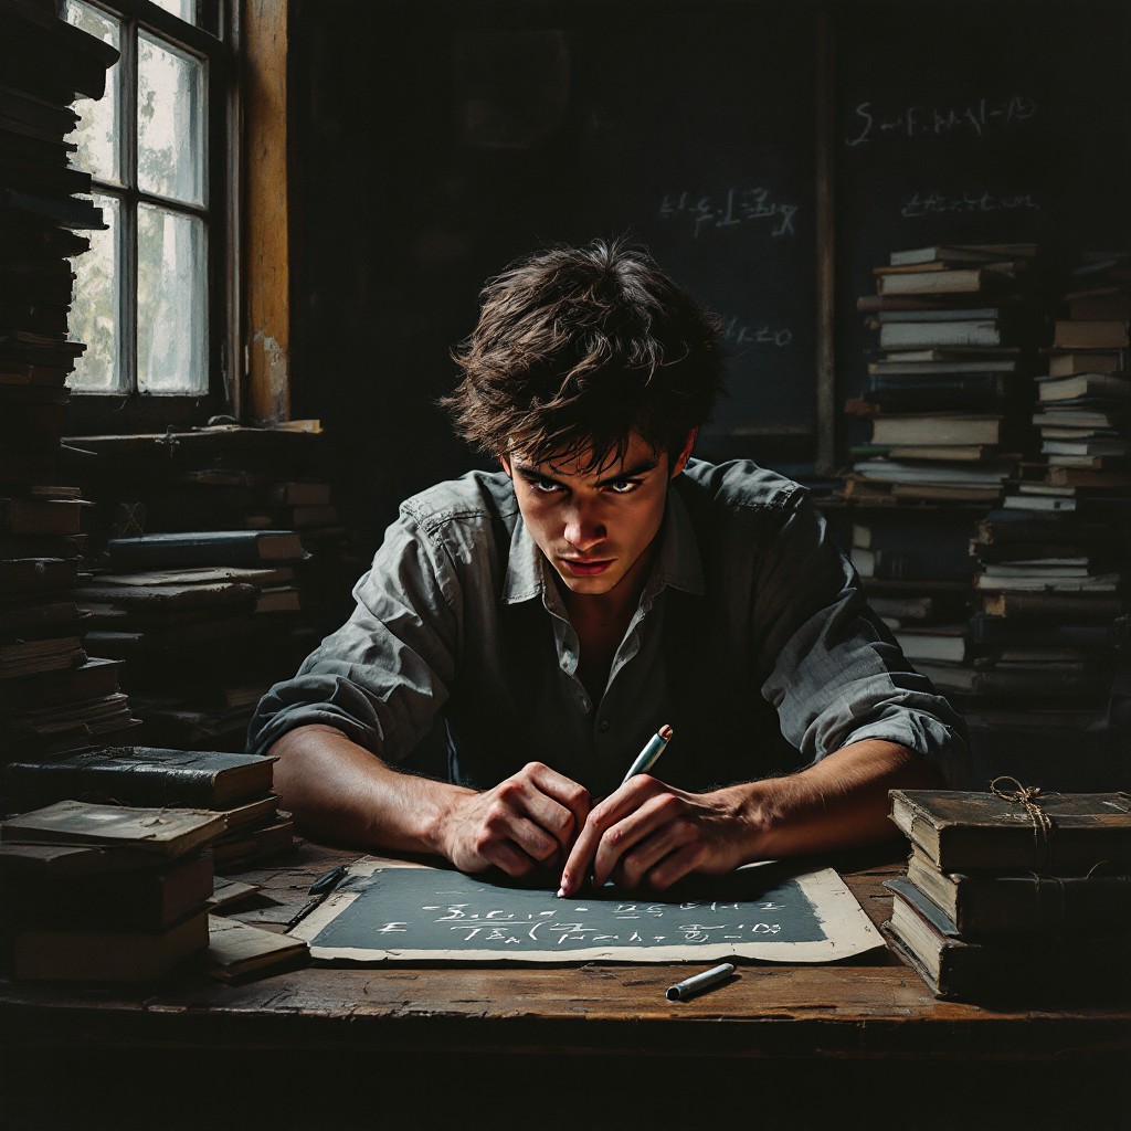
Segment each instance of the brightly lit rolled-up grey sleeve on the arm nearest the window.
[[250,753],[322,724],[397,762],[429,731],[449,697],[460,641],[459,581],[443,543],[403,510],[354,597],[349,620],[260,700]]

